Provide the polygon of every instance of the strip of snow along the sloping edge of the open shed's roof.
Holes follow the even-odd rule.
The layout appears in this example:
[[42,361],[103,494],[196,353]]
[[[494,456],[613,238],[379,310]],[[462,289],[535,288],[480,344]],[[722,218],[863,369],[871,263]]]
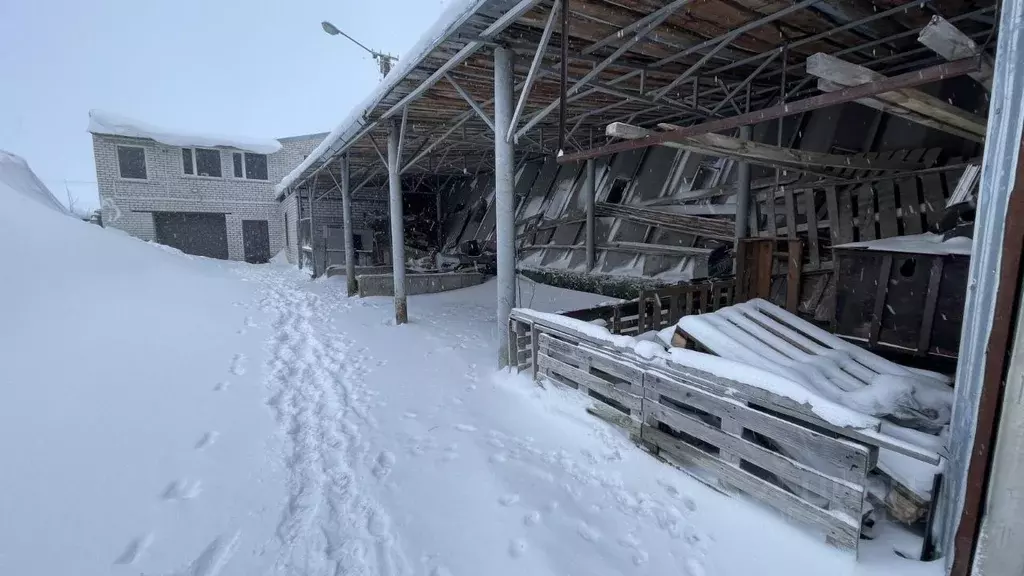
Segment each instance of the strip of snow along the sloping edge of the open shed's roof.
[[367,97],[362,99],[358,106],[352,108],[348,116],[338,124],[331,133],[324,138],[324,141],[319,143],[310,154],[295,167],[294,170],[289,172],[280,183],[274,187],[274,191],[278,193],[278,197],[283,196],[285,190],[295,183],[297,179],[306,171],[314,162],[318,161],[319,158],[326,153],[331,147],[337,143],[339,140],[346,141],[359,130],[366,126],[367,116],[377,107],[377,105],[384,99],[384,97],[390,92],[395,86],[401,82],[406,76],[416,69],[420,63],[437,47],[447,36],[458,29],[468,17],[476,13],[480,7],[485,4],[488,0],[449,0],[447,5],[444,10],[437,16],[437,20],[434,22],[433,26],[428,28],[426,32],[420,36],[420,39],[409,49],[408,55],[400,58],[398,63],[391,68],[391,71],[387,76],[384,77],[373,90],[367,94]]

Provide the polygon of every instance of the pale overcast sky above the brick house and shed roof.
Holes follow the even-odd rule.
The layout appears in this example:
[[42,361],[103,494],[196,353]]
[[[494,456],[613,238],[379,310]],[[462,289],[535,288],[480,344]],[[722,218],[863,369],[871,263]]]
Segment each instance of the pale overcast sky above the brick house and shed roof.
[[181,131],[329,131],[443,0],[0,0],[0,149],[98,205],[90,109]]

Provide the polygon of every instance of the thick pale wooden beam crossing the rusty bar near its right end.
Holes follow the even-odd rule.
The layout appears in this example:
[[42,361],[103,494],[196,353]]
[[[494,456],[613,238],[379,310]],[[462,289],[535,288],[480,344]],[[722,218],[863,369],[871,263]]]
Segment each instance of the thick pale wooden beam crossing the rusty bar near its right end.
[[[812,54],[807,58],[807,74],[846,87],[888,80],[886,76],[878,72],[820,52]],[[956,108],[933,95],[926,94],[921,90],[899,88],[879,93],[874,97],[887,104],[904,108],[926,118],[931,118],[941,124],[972,132],[980,137],[985,136],[986,121],[984,118]]]

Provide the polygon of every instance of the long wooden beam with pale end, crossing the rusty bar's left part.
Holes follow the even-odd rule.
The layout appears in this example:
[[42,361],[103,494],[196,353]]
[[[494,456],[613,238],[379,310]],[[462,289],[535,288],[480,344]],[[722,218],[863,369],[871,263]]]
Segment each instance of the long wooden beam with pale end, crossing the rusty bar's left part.
[[[671,130],[675,131],[675,130]],[[652,132],[646,128],[613,122],[608,124],[606,134],[616,138],[648,138]],[[780,166],[801,171],[815,172],[813,168],[854,168],[862,170],[914,170],[920,164],[868,159],[862,156],[844,154],[821,154],[772,145],[741,140],[722,134],[701,134],[674,138],[663,142],[665,146],[690,150],[698,154],[745,160],[763,166]],[[811,169],[809,169],[811,168]]]

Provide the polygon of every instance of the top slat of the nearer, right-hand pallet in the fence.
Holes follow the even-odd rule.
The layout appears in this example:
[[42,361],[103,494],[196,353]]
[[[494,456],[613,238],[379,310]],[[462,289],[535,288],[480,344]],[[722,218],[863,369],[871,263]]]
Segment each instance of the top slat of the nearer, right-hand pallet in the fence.
[[857,478],[867,474],[868,451],[859,444],[829,438],[810,428],[794,425],[770,414],[751,410],[736,400],[710,394],[679,380],[668,380],[664,376],[647,378],[647,374],[644,376],[644,398],[647,400],[660,403],[664,396],[711,414],[729,416],[742,422],[744,427],[776,442],[813,451],[837,470],[843,470],[845,478]]

